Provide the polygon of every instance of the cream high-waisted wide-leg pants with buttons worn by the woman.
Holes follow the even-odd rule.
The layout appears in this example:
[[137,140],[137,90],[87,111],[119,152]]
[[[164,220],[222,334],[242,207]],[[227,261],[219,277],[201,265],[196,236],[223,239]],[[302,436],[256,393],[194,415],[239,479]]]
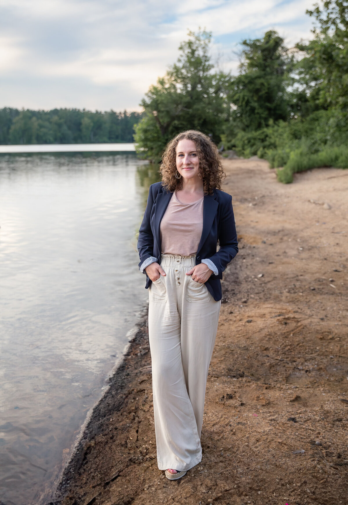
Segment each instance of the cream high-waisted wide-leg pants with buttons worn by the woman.
[[202,460],[201,430],[208,369],[221,300],[185,275],[195,255],[162,255],[166,272],[148,291],[157,461],[189,470]]

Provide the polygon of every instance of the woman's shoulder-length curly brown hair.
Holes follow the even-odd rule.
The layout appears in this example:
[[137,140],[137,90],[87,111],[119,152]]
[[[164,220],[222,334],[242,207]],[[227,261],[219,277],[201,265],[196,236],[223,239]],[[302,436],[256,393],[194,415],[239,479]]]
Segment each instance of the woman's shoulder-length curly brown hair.
[[196,130],[183,131],[171,140],[164,151],[160,173],[162,186],[167,191],[175,191],[182,188],[182,177],[177,179],[176,172],[176,146],[180,140],[188,139],[195,143],[200,160],[200,175],[203,179],[204,194],[213,194],[213,189],[221,189],[220,183],[226,177],[221,165],[218,149],[210,138]]

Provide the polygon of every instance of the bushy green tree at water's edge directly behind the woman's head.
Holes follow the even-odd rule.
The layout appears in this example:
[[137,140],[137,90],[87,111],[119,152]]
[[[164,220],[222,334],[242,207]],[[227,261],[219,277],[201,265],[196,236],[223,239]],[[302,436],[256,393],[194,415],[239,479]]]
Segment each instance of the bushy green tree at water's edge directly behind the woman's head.
[[228,112],[228,76],[213,72],[209,55],[211,34],[188,32],[180,56],[164,77],[141,100],[143,119],[135,126],[134,140],[143,158],[158,161],[167,142],[177,133],[197,129],[219,141]]

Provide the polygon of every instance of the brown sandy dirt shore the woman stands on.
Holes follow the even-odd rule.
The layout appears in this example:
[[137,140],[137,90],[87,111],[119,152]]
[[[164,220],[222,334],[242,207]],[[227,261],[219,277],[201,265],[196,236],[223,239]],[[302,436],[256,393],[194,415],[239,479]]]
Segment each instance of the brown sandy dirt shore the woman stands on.
[[157,468],[146,318],[94,413],[61,505],[348,503],[348,171],[276,181],[224,161],[239,252],[227,267],[202,464]]

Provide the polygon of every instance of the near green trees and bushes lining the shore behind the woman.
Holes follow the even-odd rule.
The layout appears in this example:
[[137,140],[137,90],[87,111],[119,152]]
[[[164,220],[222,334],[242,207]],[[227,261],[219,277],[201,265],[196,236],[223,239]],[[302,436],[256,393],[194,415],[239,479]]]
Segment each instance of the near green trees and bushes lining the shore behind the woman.
[[176,133],[198,129],[239,156],[270,162],[278,179],[315,166],[348,168],[348,2],[307,14],[312,40],[286,47],[268,31],[241,42],[239,75],[217,71],[211,34],[189,32],[180,57],[145,94],[138,152],[153,161]]

